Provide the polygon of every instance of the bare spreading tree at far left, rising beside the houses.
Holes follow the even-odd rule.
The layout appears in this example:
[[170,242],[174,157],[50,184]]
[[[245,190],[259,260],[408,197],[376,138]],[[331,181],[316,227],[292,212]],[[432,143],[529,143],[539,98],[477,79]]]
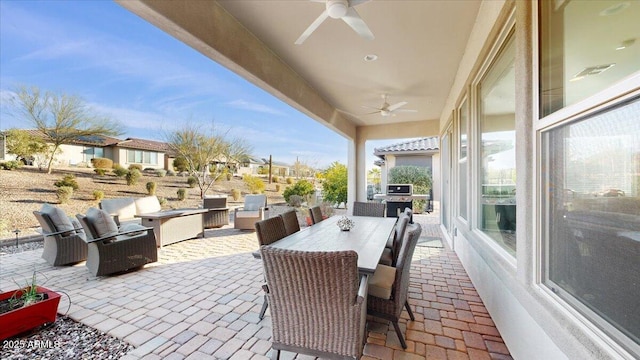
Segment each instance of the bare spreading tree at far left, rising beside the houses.
[[41,134],[48,147],[47,173],[51,174],[54,155],[60,145],[90,136],[117,136],[119,123],[97,116],[82,99],[67,94],[41,92],[23,87],[13,99],[19,115]]

